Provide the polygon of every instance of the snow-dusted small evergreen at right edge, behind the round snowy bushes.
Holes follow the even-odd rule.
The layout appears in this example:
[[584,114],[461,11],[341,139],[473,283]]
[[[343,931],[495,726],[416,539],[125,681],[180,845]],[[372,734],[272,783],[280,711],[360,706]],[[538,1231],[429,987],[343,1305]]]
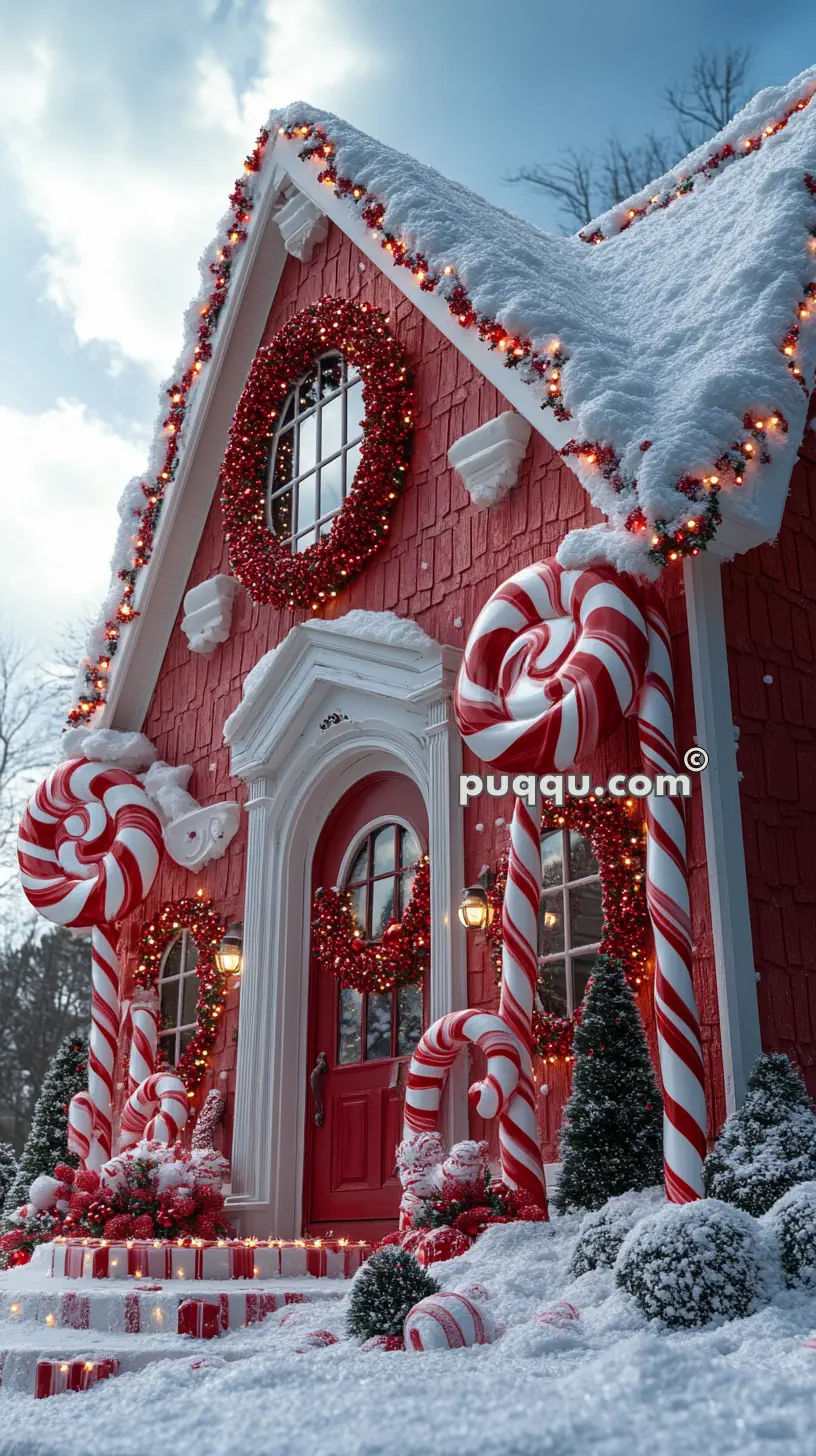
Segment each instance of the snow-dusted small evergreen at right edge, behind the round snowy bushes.
[[702,1178],[710,1198],[755,1217],[794,1184],[816,1178],[816,1117],[801,1076],[782,1053],[756,1059],[746,1099],[727,1118]]

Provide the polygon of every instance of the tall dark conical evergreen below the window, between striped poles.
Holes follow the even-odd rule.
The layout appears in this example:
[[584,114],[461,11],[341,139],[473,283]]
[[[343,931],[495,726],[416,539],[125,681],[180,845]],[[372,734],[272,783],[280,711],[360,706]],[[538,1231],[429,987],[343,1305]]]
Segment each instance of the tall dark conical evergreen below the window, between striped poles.
[[663,1099],[624,967],[599,955],[573,1041],[573,1095],[561,1127],[560,1213],[663,1179]]

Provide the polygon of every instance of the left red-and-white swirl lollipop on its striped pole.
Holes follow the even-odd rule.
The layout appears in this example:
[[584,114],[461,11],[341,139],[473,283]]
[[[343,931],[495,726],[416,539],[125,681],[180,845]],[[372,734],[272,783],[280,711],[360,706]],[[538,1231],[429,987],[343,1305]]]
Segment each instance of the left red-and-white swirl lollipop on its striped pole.
[[[26,898],[54,925],[92,927],[87,1095],[93,1133],[85,1163],[111,1156],[111,1104],[119,1032],[114,925],[147,895],[162,855],[162,824],[141,783],[124,769],[70,759],[31,798],[17,837]],[[87,1104],[68,1109],[71,1146],[87,1142]]]

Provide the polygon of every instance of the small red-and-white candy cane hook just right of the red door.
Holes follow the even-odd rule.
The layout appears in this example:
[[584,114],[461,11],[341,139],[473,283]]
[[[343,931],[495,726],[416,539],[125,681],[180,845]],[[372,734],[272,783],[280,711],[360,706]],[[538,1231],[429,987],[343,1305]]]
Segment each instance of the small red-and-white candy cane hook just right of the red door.
[[519,1082],[522,1045],[498,1016],[481,1010],[456,1010],[423,1032],[408,1067],[404,1137],[436,1131],[442,1089],[447,1069],[462,1047],[476,1045],[487,1059],[487,1076],[474,1082],[468,1098],[479,1117],[497,1117]]

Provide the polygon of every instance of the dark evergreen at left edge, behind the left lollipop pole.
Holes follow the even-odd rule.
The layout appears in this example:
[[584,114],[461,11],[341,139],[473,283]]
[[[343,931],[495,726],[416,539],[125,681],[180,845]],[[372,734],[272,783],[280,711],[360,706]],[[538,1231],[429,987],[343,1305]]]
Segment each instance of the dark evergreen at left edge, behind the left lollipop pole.
[[52,1174],[57,1163],[76,1168],[77,1158],[68,1152],[68,1102],[86,1086],[87,1037],[66,1037],[45,1073],[17,1175],[6,1192],[3,1219],[28,1200],[28,1190],[39,1174]]

